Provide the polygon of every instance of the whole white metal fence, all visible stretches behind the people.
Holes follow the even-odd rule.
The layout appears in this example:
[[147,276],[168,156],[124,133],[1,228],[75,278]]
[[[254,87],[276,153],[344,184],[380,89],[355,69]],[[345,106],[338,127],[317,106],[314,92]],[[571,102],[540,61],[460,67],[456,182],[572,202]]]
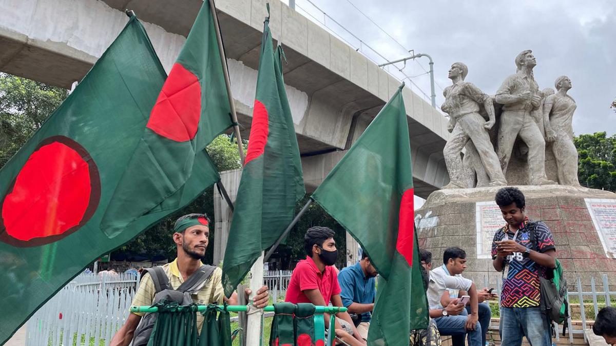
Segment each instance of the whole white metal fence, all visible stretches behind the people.
[[[128,317],[138,280],[137,276],[127,273],[77,276],[28,320],[26,345],[109,345],[113,334]],[[291,270],[264,272],[264,284],[269,286],[274,301],[286,292],[290,280]],[[487,278],[484,281],[487,287]],[[580,278],[574,284],[577,290],[569,291],[569,301],[574,299],[580,304],[579,307],[573,305],[575,311],[570,305],[569,313],[575,314],[575,320],[580,320],[581,326],[569,320],[569,340],[572,344],[574,335],[584,334],[583,329],[590,328],[599,310],[613,305],[616,300],[616,291],[610,289],[607,275],[603,275],[599,283],[591,278],[590,289],[586,291]],[[496,288],[498,296],[500,286],[499,282]],[[556,340],[560,337],[556,336]],[[586,341],[585,335],[584,339]]]

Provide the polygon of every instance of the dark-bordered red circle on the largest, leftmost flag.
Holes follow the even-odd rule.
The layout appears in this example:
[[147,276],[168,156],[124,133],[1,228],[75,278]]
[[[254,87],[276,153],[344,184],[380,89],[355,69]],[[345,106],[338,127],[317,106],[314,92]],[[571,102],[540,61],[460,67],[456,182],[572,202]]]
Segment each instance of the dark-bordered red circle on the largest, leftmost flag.
[[0,241],[19,247],[54,243],[86,224],[99,199],[99,171],[86,149],[68,137],[49,137],[1,201]]

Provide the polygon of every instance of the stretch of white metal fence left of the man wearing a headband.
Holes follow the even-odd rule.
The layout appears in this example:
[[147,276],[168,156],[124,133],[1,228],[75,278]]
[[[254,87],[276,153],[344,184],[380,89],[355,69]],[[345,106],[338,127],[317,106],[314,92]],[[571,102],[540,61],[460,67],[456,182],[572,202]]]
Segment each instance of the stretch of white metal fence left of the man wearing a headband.
[[136,275],[78,275],[28,320],[26,345],[109,345],[128,317]]

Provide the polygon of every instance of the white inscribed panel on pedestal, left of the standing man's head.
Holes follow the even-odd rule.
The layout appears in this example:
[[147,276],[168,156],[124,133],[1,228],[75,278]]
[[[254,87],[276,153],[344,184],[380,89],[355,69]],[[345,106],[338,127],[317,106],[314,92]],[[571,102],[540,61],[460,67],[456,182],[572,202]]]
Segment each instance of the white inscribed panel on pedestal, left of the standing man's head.
[[505,225],[503,214],[494,201],[475,203],[477,258],[492,258],[492,241],[496,231]]

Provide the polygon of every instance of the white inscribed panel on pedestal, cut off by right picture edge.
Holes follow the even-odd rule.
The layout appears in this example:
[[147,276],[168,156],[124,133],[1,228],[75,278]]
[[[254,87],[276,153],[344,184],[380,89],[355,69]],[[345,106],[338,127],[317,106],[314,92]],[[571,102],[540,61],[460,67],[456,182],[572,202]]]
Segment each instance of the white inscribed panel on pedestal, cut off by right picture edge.
[[616,199],[586,198],[585,201],[606,256],[616,259]]

